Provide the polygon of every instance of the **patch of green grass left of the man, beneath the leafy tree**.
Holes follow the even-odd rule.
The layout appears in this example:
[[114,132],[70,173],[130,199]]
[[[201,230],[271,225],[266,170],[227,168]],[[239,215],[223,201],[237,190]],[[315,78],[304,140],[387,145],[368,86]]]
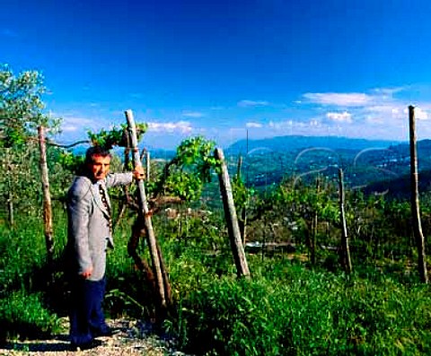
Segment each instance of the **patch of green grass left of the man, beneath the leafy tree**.
[[58,329],[47,305],[46,247],[39,219],[19,216],[0,224],[0,341],[46,336]]

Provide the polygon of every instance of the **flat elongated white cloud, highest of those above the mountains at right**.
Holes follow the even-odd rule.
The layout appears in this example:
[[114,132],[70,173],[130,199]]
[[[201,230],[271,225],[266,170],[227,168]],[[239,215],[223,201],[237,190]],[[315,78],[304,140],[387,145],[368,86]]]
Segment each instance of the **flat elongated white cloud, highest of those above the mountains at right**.
[[358,107],[368,104],[372,97],[363,92],[307,92],[303,97],[309,102],[340,107]]

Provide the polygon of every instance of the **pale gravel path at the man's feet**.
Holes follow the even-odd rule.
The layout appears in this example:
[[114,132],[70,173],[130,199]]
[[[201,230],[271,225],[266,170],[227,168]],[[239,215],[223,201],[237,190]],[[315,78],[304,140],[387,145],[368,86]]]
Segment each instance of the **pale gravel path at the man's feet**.
[[110,326],[116,331],[112,337],[100,337],[101,346],[92,350],[73,352],[67,338],[67,320],[64,320],[64,332],[54,335],[50,340],[16,341],[0,346],[0,355],[101,355],[101,356],[187,356],[174,349],[172,339],[162,338],[153,333],[150,323],[136,320],[110,320]]

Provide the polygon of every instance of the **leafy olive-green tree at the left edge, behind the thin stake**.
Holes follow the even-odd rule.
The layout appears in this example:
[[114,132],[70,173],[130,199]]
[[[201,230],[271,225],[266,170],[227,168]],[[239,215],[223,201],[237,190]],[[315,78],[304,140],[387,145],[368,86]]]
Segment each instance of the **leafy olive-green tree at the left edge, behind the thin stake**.
[[59,129],[60,119],[43,112],[45,91],[39,72],[15,75],[0,65],[0,167],[7,173],[0,175],[0,202],[8,206],[11,222],[13,204],[31,207],[40,194],[37,126],[51,135]]

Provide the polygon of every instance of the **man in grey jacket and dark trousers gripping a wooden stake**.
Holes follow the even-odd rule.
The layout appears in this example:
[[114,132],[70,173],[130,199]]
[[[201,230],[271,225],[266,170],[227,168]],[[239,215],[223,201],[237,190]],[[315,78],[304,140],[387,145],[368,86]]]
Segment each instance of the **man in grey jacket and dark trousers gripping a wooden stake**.
[[84,175],[75,178],[67,193],[67,265],[72,286],[70,340],[74,349],[90,349],[108,336],[110,327],[101,308],[105,293],[106,251],[114,247],[110,198],[106,189],[144,178],[142,166],[128,173],[110,174],[110,152],[100,146],[85,154]]

